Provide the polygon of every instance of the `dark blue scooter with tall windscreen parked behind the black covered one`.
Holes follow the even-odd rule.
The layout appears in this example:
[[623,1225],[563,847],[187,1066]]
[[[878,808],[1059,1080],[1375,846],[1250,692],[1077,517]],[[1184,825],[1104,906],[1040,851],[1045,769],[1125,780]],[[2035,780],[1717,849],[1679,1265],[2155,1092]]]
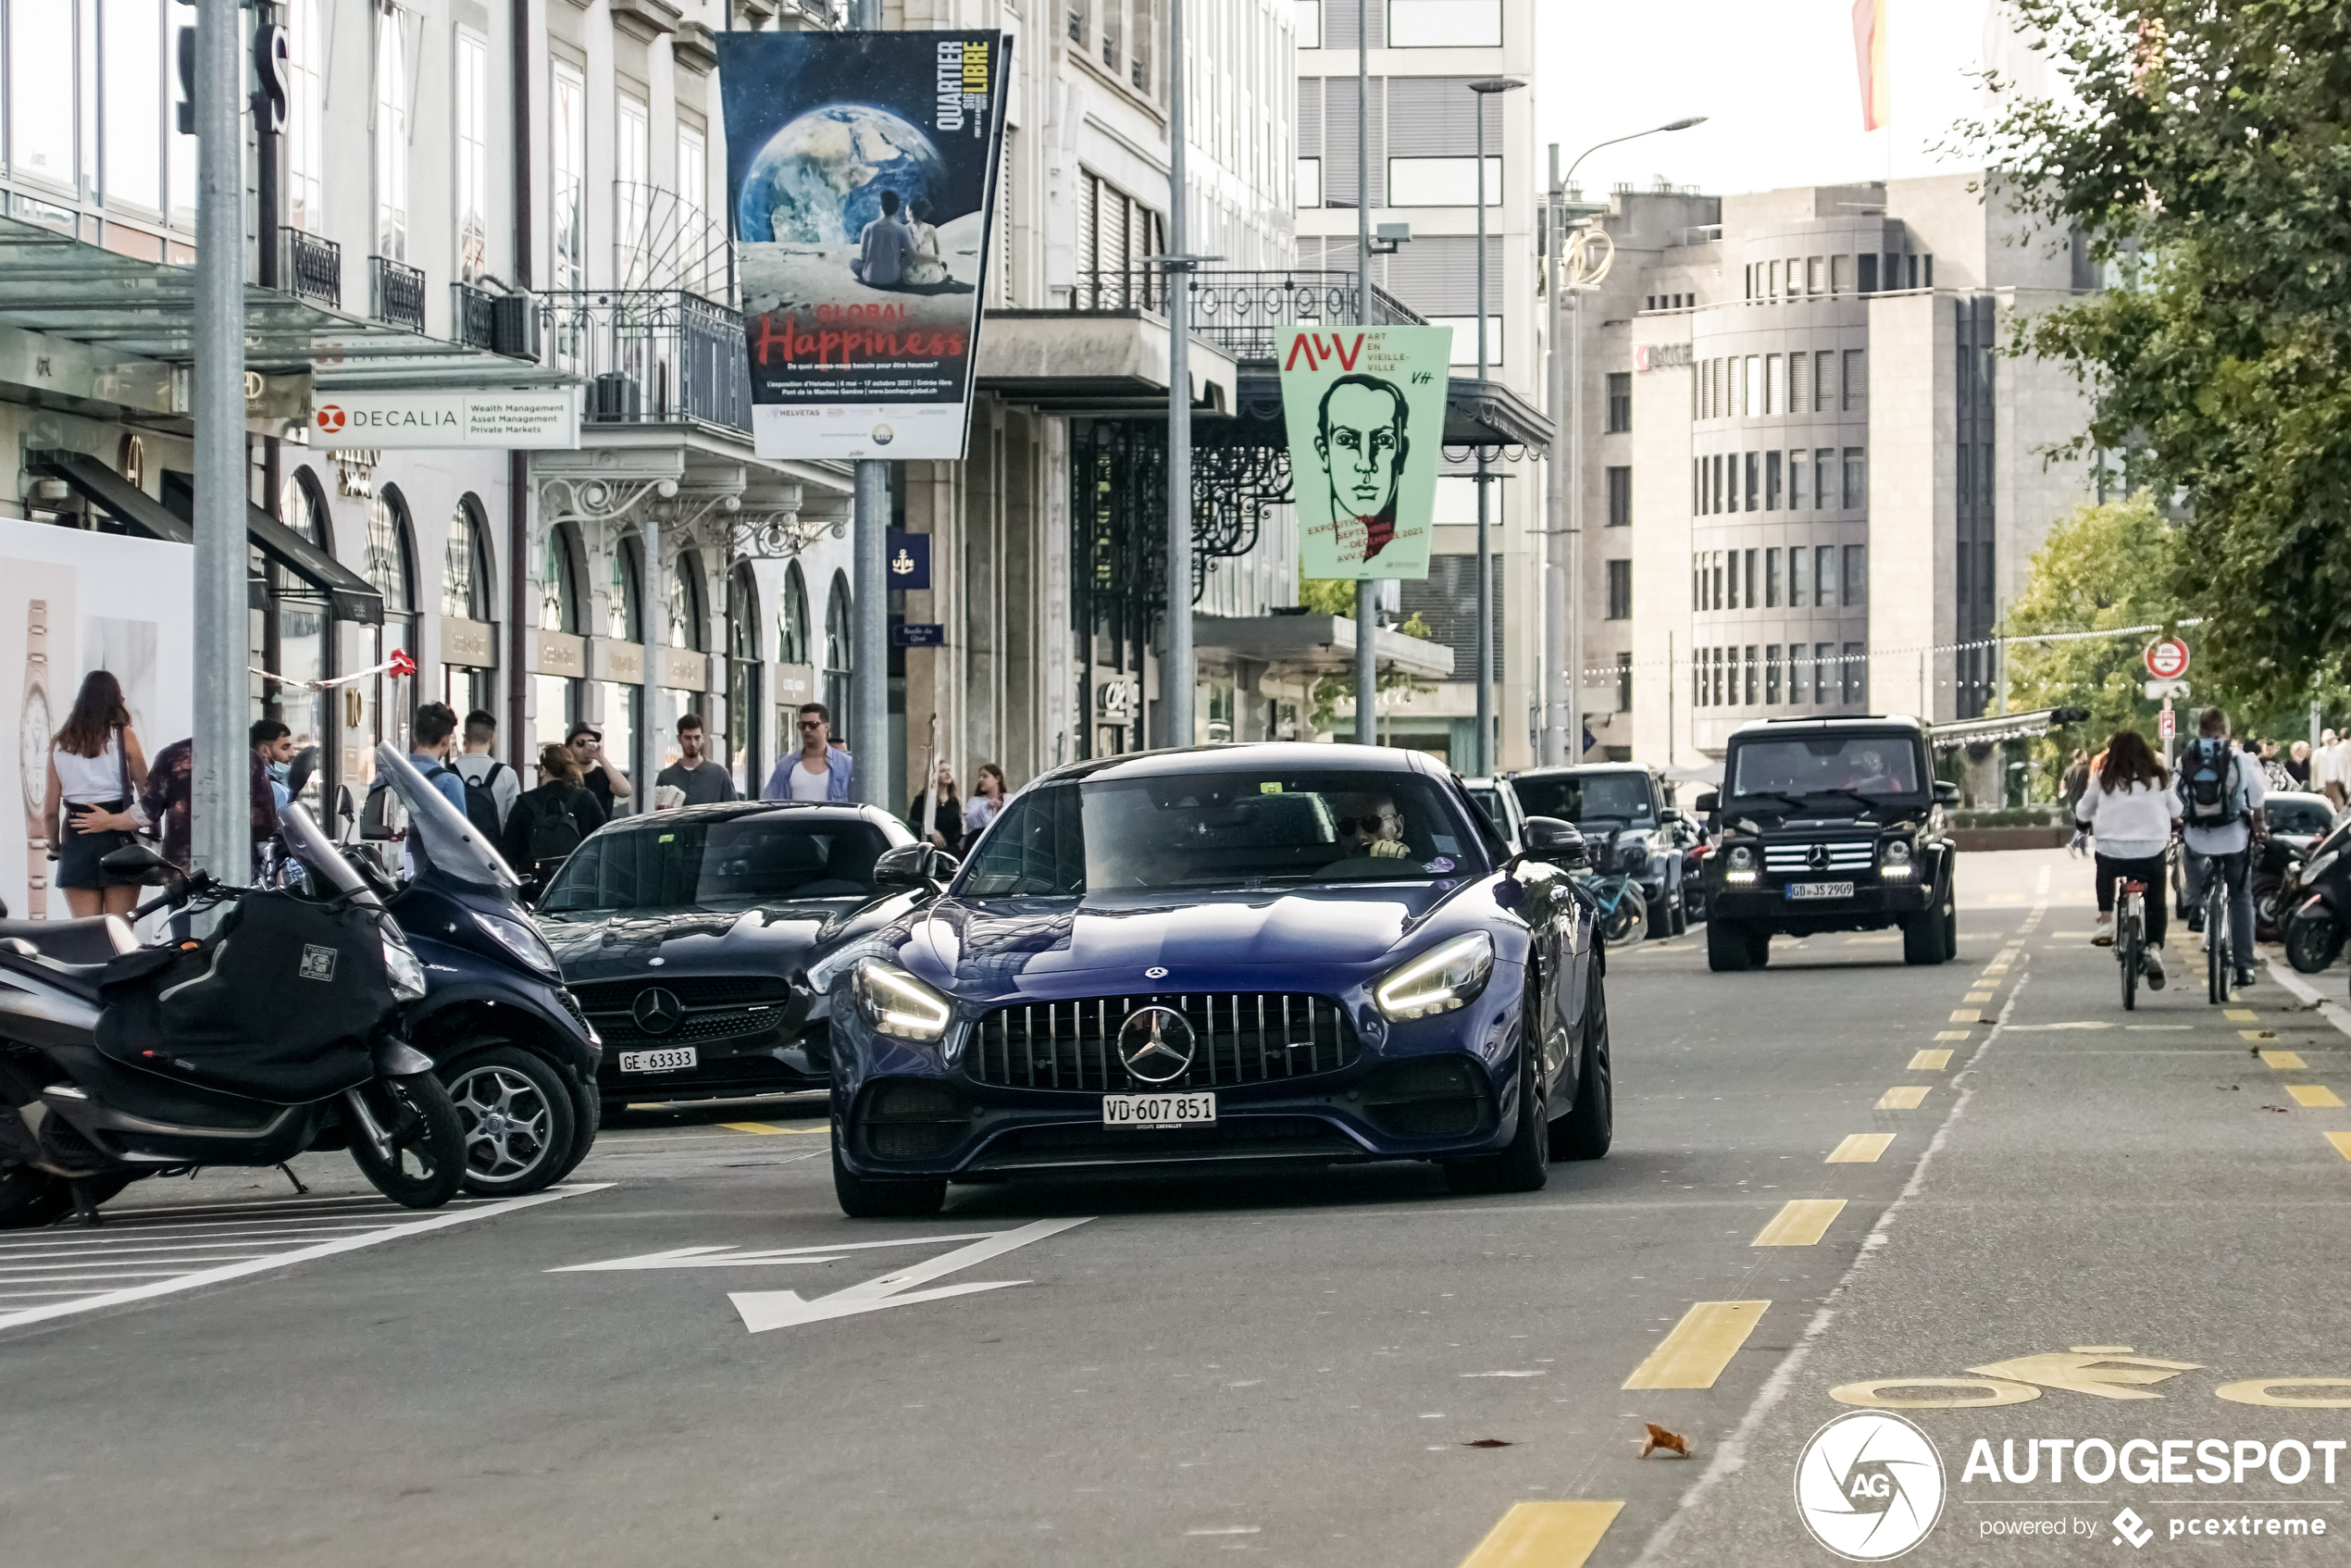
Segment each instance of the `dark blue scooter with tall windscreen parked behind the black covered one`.
[[538,1192],[595,1145],[604,1041],[564,990],[496,846],[393,745],[376,748],[376,778],[400,804],[416,875],[395,889],[369,851],[353,860],[379,879],[423,961],[426,997],[402,1025],[440,1063],[465,1126],[465,1192]]

